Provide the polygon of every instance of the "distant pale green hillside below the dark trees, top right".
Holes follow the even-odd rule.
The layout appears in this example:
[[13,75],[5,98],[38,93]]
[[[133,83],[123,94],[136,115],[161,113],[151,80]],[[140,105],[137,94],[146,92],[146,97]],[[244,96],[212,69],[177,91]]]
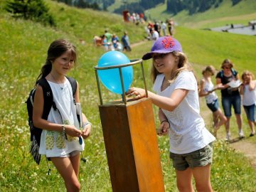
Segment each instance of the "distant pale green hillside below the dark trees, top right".
[[181,11],[176,16],[166,12],[166,4],[160,4],[154,9],[146,11],[146,16],[150,15],[151,21],[154,19],[164,21],[166,18],[173,17],[180,26],[190,28],[212,28],[215,26],[223,26],[230,23],[247,24],[250,20],[256,18],[256,1],[245,0],[239,4],[232,6],[230,0],[223,0],[217,9],[212,8],[201,14],[188,15],[187,11]]

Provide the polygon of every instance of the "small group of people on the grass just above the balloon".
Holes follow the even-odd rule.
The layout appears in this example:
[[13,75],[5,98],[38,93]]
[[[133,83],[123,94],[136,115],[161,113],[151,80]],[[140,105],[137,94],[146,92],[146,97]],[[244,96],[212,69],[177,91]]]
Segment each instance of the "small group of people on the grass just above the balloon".
[[108,30],[105,30],[105,33],[102,36],[93,37],[93,43],[95,46],[102,46],[105,51],[118,50],[122,52],[124,50],[132,50],[127,31],[124,31],[124,35],[122,36],[120,41],[117,34],[112,34]]

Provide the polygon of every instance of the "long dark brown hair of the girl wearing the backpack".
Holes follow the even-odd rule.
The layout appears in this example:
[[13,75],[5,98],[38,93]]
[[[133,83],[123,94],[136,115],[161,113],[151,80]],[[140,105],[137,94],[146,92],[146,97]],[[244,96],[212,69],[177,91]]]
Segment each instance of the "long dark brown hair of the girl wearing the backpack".
[[47,52],[46,63],[41,68],[41,73],[38,75],[36,82],[41,78],[46,78],[46,76],[50,73],[50,70],[52,69],[53,61],[56,58],[60,57],[60,55],[63,55],[63,53],[65,53],[67,50],[71,50],[71,54],[73,55],[74,63],[75,63],[76,49],[72,43],[70,43],[65,39],[58,39],[53,41],[53,43],[50,43],[50,46]]

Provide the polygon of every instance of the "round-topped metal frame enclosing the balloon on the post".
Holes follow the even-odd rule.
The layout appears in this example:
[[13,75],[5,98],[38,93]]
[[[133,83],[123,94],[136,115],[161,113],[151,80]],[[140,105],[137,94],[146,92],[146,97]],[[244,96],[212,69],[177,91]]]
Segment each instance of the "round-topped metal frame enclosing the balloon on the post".
[[145,79],[142,59],[134,59],[134,60],[131,60],[131,63],[127,63],[127,64],[107,66],[107,67],[98,67],[98,66],[95,67],[95,75],[96,75],[96,80],[97,80],[97,89],[98,89],[99,96],[100,96],[100,105],[103,105],[103,102],[102,102],[102,92],[100,90],[100,80],[99,80],[99,75],[97,73],[97,70],[108,70],[108,69],[114,69],[114,68],[119,69],[119,75],[120,75],[120,80],[121,80],[121,85],[122,85],[122,100],[123,100],[124,104],[127,105],[127,100],[126,100],[125,92],[124,92],[124,79],[123,79],[123,76],[122,76],[122,68],[127,67],[127,66],[131,66],[131,65],[137,65],[137,64],[140,64],[141,67],[142,67],[142,77],[143,77],[143,82],[144,82],[144,89],[145,89],[145,92],[146,92],[146,97],[148,97],[148,92],[147,92],[147,89],[146,89],[146,79]]

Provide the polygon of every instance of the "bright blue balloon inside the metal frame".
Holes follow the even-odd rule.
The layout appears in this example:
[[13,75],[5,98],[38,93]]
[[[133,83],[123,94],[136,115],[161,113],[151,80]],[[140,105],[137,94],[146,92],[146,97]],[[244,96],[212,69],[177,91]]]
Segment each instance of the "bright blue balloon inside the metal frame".
[[[126,55],[124,55],[124,53],[112,50],[102,55],[98,61],[98,67],[109,67],[127,63],[130,63],[130,60]],[[117,94],[122,94],[122,84],[118,68],[98,70],[98,74],[100,81],[108,90]],[[124,91],[127,92],[133,79],[132,66],[122,68],[122,77],[124,80]]]

